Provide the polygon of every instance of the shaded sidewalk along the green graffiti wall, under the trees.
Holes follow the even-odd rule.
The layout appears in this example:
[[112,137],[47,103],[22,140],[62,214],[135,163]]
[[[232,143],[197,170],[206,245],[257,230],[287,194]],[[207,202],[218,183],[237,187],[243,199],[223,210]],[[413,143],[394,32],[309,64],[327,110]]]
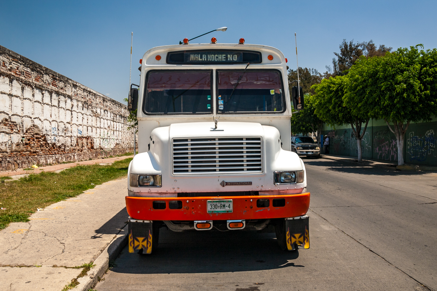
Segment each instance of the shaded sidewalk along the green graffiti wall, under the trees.
[[321,158],[328,159],[332,161],[338,161],[341,163],[355,164],[358,167],[374,167],[374,168],[383,168],[386,170],[402,170],[402,171],[437,171],[437,167],[434,166],[423,166],[423,165],[415,165],[415,164],[405,164],[402,166],[398,166],[397,162],[394,161],[382,161],[376,159],[363,159],[361,162],[358,162],[355,157],[350,156],[340,156],[336,154],[321,154]]

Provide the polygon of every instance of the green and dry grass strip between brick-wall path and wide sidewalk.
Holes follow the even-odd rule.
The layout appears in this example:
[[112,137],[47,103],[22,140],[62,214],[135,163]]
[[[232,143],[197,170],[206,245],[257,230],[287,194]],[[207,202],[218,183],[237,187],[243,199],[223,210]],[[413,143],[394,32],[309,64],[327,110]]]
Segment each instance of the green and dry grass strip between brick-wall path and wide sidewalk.
[[[15,181],[0,183],[0,229],[11,222],[28,222],[37,208],[76,197],[87,189],[127,175],[132,158],[110,165],[78,165],[59,173],[41,172]],[[92,185],[94,184],[94,185]]]

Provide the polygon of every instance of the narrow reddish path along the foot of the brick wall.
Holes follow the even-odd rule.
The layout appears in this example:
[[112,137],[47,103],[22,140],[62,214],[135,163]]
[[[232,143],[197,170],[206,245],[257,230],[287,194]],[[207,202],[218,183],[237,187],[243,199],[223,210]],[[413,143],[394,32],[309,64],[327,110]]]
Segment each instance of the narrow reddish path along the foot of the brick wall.
[[[122,156],[122,157],[105,157],[103,159],[94,159],[94,160],[88,160],[88,161],[80,161],[80,162],[71,162],[68,164],[55,164],[52,166],[44,166],[37,169],[32,170],[12,170],[12,171],[0,171],[0,177],[10,177],[10,176],[18,176],[18,175],[28,175],[28,174],[38,174],[41,173],[41,171],[46,172],[55,172],[60,171],[66,168],[76,167],[76,165],[93,165],[93,164],[112,164],[115,161],[121,161],[129,157],[134,157],[132,154],[131,156]],[[19,177],[21,178],[21,177]]]

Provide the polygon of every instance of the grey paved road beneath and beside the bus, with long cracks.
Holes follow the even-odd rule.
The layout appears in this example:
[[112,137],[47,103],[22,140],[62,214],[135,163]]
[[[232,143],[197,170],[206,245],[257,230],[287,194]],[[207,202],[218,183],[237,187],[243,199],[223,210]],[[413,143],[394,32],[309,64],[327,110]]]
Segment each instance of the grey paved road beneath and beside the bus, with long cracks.
[[274,233],[161,229],[152,255],[123,250],[94,289],[437,290],[437,173],[305,164],[309,250],[280,251]]

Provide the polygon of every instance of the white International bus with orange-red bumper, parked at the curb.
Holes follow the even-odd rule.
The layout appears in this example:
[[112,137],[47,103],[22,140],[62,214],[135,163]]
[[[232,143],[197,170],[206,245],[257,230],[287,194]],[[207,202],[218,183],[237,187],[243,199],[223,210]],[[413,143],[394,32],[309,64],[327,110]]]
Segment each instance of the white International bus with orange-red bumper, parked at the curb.
[[281,51],[243,39],[167,45],[146,51],[140,70],[128,104],[139,136],[128,169],[129,252],[152,253],[163,226],[271,225],[281,249],[308,249],[310,193],[291,151]]

